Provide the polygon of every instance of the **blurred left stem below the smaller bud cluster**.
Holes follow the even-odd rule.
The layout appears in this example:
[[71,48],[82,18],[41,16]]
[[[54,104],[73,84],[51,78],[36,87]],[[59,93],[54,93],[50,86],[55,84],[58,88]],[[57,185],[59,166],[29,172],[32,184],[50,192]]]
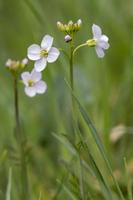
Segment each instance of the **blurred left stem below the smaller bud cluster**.
[[19,145],[20,151],[20,171],[21,171],[21,200],[29,200],[28,197],[28,175],[27,175],[27,165],[25,156],[25,138],[20,126],[19,118],[19,98],[18,98],[18,77],[14,74],[14,109],[15,109],[15,134]]

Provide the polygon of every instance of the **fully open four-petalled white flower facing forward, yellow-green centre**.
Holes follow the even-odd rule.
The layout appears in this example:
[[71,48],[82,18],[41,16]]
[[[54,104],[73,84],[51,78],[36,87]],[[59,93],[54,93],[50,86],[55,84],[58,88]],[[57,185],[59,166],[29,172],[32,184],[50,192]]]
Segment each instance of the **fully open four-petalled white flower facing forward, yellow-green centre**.
[[35,70],[41,72],[45,69],[47,62],[55,62],[60,54],[59,50],[52,47],[53,37],[45,35],[41,46],[33,44],[28,48],[28,58],[35,61]]

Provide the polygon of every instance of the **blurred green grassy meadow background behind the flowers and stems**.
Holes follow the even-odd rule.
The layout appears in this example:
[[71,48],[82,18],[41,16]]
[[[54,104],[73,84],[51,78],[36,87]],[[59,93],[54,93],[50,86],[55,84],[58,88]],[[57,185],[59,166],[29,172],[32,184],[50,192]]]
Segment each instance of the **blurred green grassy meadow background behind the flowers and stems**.
[[[133,180],[133,1],[132,0],[0,0],[0,199],[5,199],[9,167],[13,169],[12,199],[17,198],[18,167],[12,158],[15,146],[12,77],[5,68],[8,58],[23,59],[27,48],[40,43],[45,34],[54,37],[54,45],[68,50],[57,21],[82,19],[76,44],[92,37],[93,23],[109,37],[110,48],[104,59],[98,59],[93,48],[84,47],[74,62],[75,89],[80,102],[90,114],[106,147],[112,168],[126,197],[123,158],[127,159],[129,177]],[[33,67],[30,62],[27,70]],[[59,189],[59,181],[67,173],[71,155],[53,136],[71,133],[70,91],[64,78],[69,78],[69,62],[61,54],[56,63],[43,72],[48,84],[44,95],[28,98],[20,85],[20,110],[31,153],[29,183],[31,199],[50,200]],[[84,130],[86,125],[82,122]],[[124,135],[110,140],[111,130],[124,126]],[[116,130],[116,134],[117,130]],[[88,143],[101,170],[104,163],[91,136]],[[10,149],[7,153],[7,149]],[[9,155],[10,154],[10,155]],[[76,170],[75,163],[71,169]],[[91,178],[86,179],[91,186]],[[133,183],[132,183],[133,184]],[[112,186],[113,187],[113,186]],[[92,187],[94,199],[100,197],[97,184]],[[92,192],[93,193],[93,192]],[[99,194],[99,197],[97,196]],[[57,199],[69,200],[61,188]]]

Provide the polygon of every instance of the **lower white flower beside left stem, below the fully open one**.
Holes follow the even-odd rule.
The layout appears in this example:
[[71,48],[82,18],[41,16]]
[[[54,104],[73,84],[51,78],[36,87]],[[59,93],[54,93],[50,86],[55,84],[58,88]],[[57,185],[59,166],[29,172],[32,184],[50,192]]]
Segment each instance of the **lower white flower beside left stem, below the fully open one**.
[[23,72],[21,74],[22,81],[25,85],[25,93],[29,97],[34,97],[36,94],[43,94],[47,85],[44,81],[41,80],[42,74],[32,70],[31,73]]

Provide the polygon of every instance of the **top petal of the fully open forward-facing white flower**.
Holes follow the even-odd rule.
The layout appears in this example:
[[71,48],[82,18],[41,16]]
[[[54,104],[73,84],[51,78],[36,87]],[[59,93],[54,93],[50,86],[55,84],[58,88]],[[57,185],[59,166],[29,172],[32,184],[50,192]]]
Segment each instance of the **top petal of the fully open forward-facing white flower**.
[[50,35],[45,35],[42,39],[42,42],[41,42],[41,48],[49,51],[50,48],[52,47],[53,39],[54,38],[51,37]]

